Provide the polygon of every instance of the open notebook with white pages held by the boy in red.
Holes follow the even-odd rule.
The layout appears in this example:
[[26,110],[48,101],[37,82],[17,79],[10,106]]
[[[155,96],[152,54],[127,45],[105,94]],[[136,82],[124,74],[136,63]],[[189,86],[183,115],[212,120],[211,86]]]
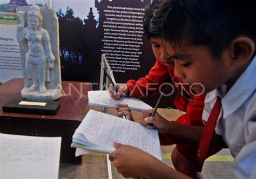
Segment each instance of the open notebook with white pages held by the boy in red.
[[123,97],[119,100],[113,100],[110,97],[109,91],[89,91],[88,92],[89,105],[91,106],[104,106],[104,107],[117,107],[115,104],[127,104],[131,109],[144,111],[152,107],[138,98]]

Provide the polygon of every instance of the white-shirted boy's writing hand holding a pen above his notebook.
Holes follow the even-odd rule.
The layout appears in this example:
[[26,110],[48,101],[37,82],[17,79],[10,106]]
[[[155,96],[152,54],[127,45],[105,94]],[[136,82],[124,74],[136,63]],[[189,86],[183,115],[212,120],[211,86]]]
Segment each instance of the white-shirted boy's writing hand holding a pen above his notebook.
[[169,125],[171,122],[160,116],[158,113],[154,115],[154,117],[150,116],[153,112],[153,109],[149,109],[142,112],[142,116],[139,118],[139,123],[143,126],[147,126],[147,123],[153,123],[153,127],[148,128],[156,128],[159,133],[165,133],[169,129]]

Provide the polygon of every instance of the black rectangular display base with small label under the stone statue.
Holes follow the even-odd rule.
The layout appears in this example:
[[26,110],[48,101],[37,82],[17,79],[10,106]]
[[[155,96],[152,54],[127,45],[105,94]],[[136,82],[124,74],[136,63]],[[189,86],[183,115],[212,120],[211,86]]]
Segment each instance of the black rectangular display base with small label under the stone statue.
[[[24,104],[21,105],[20,103]],[[26,105],[29,102],[31,105]],[[46,103],[45,106],[38,106],[38,104]],[[23,99],[12,99],[7,102],[3,107],[4,112],[10,113],[30,113],[30,114],[45,114],[45,115],[55,115],[59,108],[59,101],[33,101],[33,100],[23,100]]]

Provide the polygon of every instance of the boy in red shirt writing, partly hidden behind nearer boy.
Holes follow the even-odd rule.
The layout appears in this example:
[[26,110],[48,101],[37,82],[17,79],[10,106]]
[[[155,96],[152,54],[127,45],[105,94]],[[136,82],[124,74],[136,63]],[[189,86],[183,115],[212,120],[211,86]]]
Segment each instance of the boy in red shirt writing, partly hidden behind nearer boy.
[[[153,14],[159,9],[163,1],[153,1],[152,4],[146,8],[143,19],[144,32],[147,38],[150,39],[152,44],[152,51],[156,57],[156,64],[151,68],[149,74],[144,78],[140,78],[138,81],[129,80],[126,84],[117,84],[118,92],[114,92],[113,87],[110,86],[109,91],[113,99],[119,99],[124,95],[130,95],[130,97],[142,97],[145,95],[152,95],[160,92],[161,87],[166,82],[171,82],[173,86],[176,86],[179,94],[177,95],[174,105],[181,111],[186,112],[185,115],[181,115],[176,122],[183,123],[192,126],[203,126],[201,120],[203,108],[204,108],[204,95],[194,96],[193,92],[190,92],[188,85],[181,85],[183,81],[181,78],[174,76],[174,60],[166,52],[165,44],[161,31],[150,31],[153,20]],[[176,85],[175,85],[176,84]],[[154,90],[153,90],[154,89]],[[127,105],[117,104],[119,106],[118,115],[129,115]],[[131,115],[127,116],[130,118]],[[195,176],[194,172],[194,157],[197,152],[197,143],[184,143],[177,140],[170,140],[169,134],[160,134],[161,145],[170,145],[176,143],[177,146],[172,152],[172,162],[174,167],[182,173],[190,176]],[[212,148],[208,156],[218,152],[221,148]]]

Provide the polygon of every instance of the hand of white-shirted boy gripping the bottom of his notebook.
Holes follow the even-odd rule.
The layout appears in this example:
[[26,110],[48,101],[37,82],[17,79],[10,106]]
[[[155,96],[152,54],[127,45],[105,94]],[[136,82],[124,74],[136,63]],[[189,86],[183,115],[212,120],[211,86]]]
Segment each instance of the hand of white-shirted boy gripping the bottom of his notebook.
[[157,160],[154,156],[138,148],[113,142],[116,150],[109,154],[109,160],[124,177],[145,177],[148,162]]

